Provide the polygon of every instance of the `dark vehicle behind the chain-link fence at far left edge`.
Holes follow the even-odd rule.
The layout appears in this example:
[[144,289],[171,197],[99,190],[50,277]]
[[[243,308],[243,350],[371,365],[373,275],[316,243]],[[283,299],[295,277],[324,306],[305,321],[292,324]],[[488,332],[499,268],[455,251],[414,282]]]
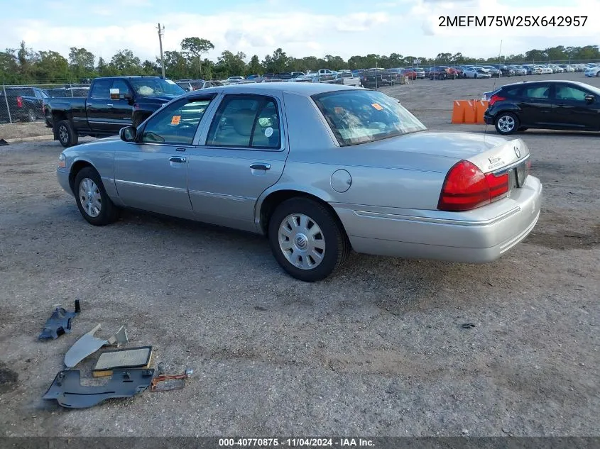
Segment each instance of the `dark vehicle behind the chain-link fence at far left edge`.
[[0,120],[36,121],[44,118],[43,101],[48,98],[48,93],[38,87],[0,87]]

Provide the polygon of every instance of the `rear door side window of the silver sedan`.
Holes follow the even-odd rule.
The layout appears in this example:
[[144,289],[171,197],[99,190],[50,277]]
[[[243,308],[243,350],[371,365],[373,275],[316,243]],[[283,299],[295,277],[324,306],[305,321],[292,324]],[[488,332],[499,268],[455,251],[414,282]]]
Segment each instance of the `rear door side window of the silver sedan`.
[[207,145],[241,148],[281,148],[275,100],[267,96],[226,96],[219,105]]

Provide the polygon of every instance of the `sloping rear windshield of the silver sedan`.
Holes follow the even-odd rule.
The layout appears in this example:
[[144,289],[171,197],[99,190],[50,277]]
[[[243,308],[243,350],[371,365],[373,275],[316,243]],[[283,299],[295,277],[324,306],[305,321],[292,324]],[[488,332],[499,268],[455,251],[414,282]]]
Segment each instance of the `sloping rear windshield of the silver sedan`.
[[339,145],[356,145],[425,131],[398,100],[371,90],[339,90],[313,95]]

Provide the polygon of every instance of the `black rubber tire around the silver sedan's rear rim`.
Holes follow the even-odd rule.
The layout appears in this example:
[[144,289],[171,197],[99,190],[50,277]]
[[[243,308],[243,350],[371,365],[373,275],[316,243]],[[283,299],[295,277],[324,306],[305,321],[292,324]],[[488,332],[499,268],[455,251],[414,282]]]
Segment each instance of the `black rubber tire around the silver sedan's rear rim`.
[[[288,260],[288,257],[285,256],[283,248],[280,247],[280,226],[293,214],[302,214],[309,217],[310,221],[320,228],[320,232],[314,237],[320,235],[321,238],[317,238],[316,240],[323,240],[325,248],[324,251],[320,253],[323,255],[321,262],[313,268],[302,269],[293,265],[293,263]],[[293,220],[296,220],[296,218],[293,218]],[[314,225],[310,228],[313,227]],[[303,237],[305,237],[304,234],[294,234],[292,231],[290,238],[288,238],[290,243],[293,242],[292,248],[290,248],[290,251],[292,251],[291,255],[300,252],[300,258],[302,260],[315,262],[315,259],[312,257],[302,256],[302,250],[298,248],[295,239],[302,239]],[[275,257],[283,270],[285,270],[288,275],[304,282],[317,282],[325,279],[339,269],[339,267],[344,265],[351,252],[350,242],[342,225],[337,221],[337,217],[335,217],[323,204],[308,198],[299,197],[288,199],[283,201],[283,203],[277,207],[269,220],[268,240],[271,245],[273,257]],[[307,239],[304,239],[304,241],[305,243],[308,243]],[[300,240],[300,242],[302,242],[302,240]],[[306,259],[304,257],[306,257]]]

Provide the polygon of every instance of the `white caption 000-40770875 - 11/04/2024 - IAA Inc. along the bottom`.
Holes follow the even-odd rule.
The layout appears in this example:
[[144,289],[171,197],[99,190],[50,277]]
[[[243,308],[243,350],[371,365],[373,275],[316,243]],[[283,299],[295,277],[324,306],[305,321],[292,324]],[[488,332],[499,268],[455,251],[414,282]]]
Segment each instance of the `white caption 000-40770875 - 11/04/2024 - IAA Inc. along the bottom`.
[[222,448],[268,448],[288,446],[310,447],[373,447],[373,440],[365,438],[219,438]]

